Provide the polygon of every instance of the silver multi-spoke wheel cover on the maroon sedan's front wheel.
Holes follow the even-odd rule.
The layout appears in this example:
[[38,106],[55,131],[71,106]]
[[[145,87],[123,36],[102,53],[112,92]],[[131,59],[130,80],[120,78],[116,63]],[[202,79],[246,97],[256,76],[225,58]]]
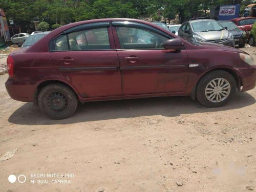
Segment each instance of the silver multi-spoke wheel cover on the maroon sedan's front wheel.
[[230,94],[230,83],[224,78],[211,80],[205,88],[205,96],[211,102],[224,101]]

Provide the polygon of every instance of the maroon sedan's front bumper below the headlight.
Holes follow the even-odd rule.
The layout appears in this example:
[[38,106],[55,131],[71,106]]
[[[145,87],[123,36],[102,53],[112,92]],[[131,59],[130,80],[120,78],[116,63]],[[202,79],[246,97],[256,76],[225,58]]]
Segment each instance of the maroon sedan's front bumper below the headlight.
[[242,92],[255,88],[256,84],[256,66],[237,68],[238,73],[242,77],[243,90]]

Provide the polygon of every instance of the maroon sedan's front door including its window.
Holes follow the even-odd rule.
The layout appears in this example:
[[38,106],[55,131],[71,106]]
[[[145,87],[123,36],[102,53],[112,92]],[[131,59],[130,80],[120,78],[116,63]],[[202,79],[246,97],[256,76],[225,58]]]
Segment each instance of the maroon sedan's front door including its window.
[[112,25],[123,95],[185,90],[188,75],[186,51],[163,48],[163,42],[172,36],[136,22],[113,22]]

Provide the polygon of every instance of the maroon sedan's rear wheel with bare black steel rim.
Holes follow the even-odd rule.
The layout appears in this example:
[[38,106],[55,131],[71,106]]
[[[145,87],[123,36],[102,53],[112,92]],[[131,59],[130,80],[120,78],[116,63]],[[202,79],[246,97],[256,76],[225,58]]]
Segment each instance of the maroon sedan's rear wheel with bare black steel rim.
[[40,110],[51,119],[71,117],[77,108],[77,96],[72,89],[60,83],[49,84],[38,94]]

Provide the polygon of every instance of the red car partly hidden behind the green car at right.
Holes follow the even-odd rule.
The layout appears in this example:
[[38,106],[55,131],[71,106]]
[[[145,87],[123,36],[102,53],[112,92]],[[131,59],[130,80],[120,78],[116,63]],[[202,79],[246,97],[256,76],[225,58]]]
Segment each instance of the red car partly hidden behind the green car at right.
[[247,37],[249,37],[250,30],[256,21],[256,17],[239,17],[230,19],[231,22],[236,24],[239,29],[242,29],[246,32]]

